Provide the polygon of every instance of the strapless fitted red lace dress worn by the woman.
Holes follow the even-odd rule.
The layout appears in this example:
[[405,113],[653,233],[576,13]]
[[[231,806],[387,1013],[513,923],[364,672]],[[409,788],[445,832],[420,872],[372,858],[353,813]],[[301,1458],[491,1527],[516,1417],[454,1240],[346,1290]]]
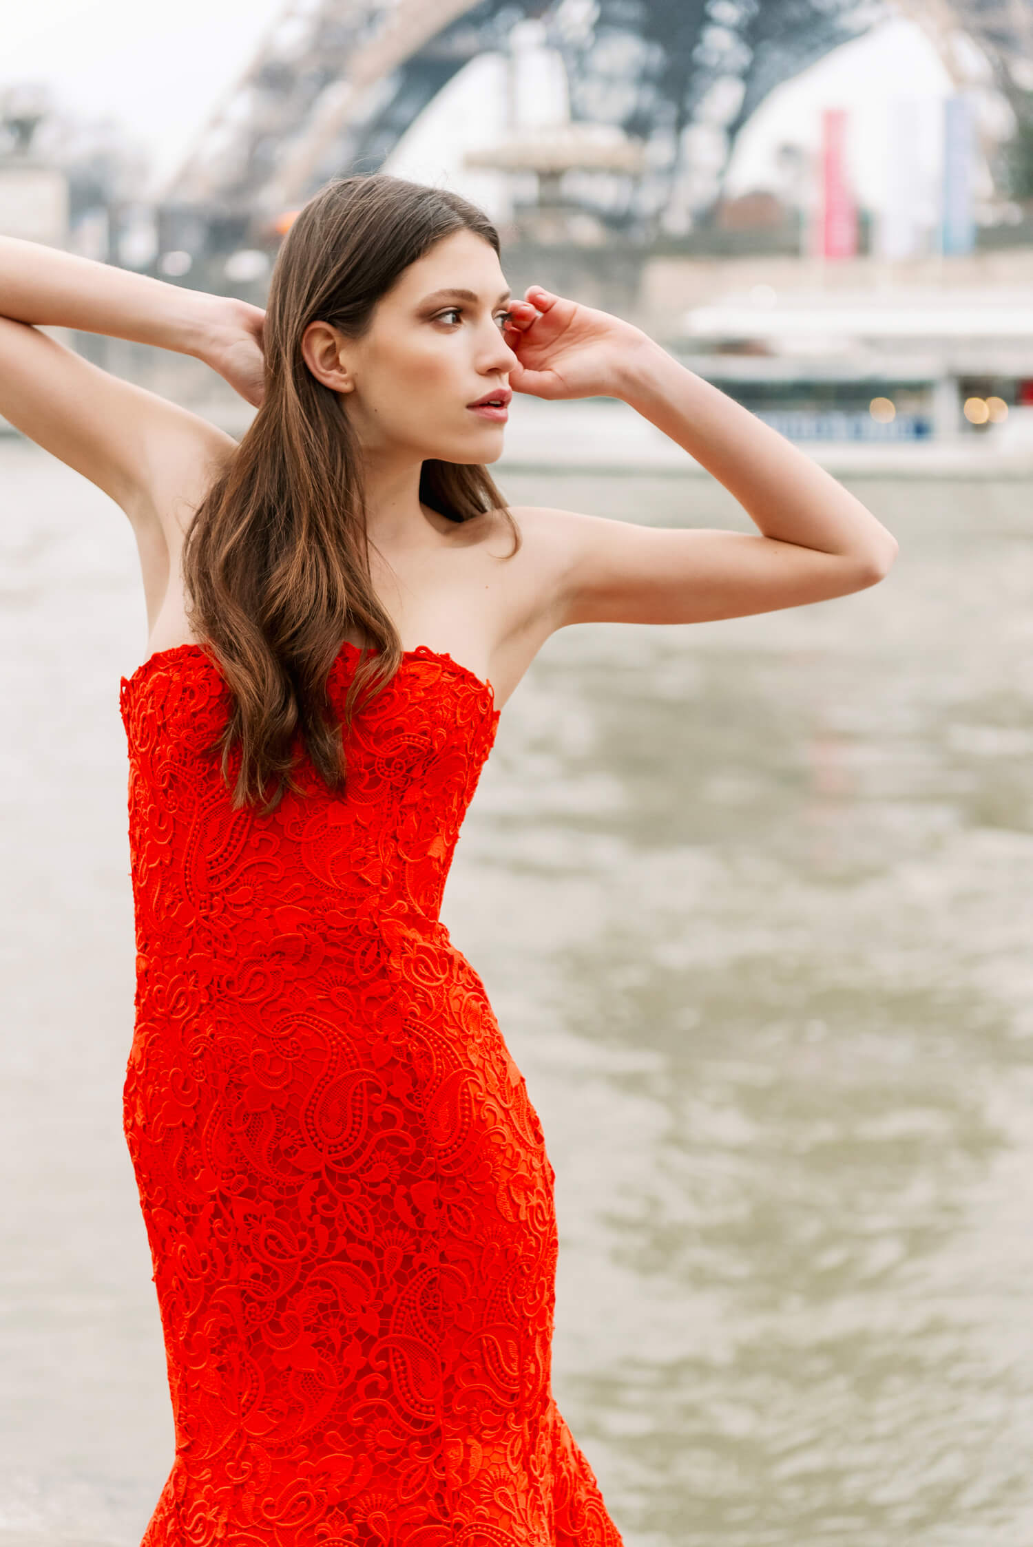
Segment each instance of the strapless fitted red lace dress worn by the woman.
[[[337,712],[357,650],[329,676]],[[145,1547],[620,1547],[551,1392],[554,1171],[438,919],[492,687],[407,651],[348,787],[234,811],[198,645],[122,679],[128,1140],[176,1454]]]

